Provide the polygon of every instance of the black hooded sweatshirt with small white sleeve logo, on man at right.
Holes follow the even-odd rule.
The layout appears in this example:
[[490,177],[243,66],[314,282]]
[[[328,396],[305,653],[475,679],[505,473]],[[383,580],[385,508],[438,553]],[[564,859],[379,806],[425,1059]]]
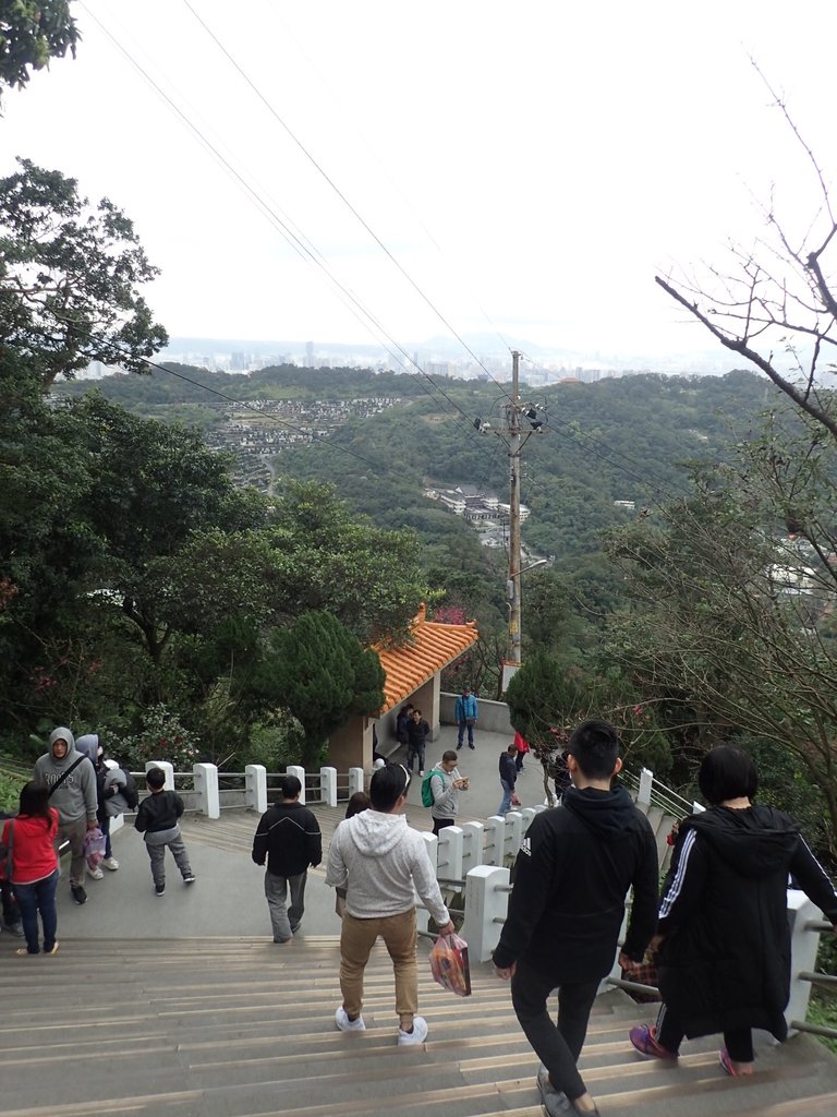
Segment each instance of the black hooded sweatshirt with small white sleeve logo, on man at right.
[[568,787],[523,839],[494,965],[525,957],[555,985],[604,977],[632,886],[624,951],[641,961],[656,924],[657,875],[654,833],[624,787]]

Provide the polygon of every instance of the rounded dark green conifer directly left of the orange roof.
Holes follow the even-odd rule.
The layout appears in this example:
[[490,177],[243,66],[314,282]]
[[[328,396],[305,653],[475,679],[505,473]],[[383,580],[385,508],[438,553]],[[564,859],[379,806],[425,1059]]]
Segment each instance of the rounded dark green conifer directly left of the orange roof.
[[260,669],[259,684],[279,699],[305,729],[304,764],[316,763],[328,735],[353,714],[375,714],[384,705],[384,670],[335,617],[306,612],[277,629]]

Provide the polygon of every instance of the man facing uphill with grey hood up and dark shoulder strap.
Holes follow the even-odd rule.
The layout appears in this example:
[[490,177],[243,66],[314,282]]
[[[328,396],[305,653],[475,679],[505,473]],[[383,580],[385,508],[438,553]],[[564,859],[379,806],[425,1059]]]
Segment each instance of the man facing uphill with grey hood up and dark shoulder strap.
[[66,726],[50,733],[49,752],[35,762],[33,779],[49,787],[49,805],[58,811],[56,842],[66,839],[70,846],[70,894],[76,904],[86,904],[84,840],[98,825],[96,771]]

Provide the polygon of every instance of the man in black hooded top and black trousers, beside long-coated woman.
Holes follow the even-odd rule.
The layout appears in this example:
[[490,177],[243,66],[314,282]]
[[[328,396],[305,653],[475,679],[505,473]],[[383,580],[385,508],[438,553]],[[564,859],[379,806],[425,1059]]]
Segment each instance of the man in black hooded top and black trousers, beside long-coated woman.
[[[596,992],[613,967],[633,886],[626,967],[642,961],[654,934],[657,851],[648,820],[624,787],[619,738],[606,722],[584,722],[568,745],[573,776],[561,806],[536,815],[518,853],[509,915],[493,962],[511,977],[514,1012],[542,1066],[538,1087],[548,1114],[597,1114],[576,1063]],[[547,999],[558,990],[558,1027]]]

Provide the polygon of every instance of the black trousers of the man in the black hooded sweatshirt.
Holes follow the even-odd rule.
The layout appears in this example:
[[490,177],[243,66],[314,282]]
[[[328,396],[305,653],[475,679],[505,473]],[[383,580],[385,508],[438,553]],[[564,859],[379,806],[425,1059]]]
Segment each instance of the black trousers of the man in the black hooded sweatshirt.
[[[587,1092],[576,1063],[587,1035],[590,1009],[600,980],[556,986],[526,960],[518,962],[511,978],[511,1003],[526,1038],[549,1071],[557,1090],[564,1090],[570,1101]],[[547,1011],[547,1000],[558,990],[558,1025]]]

